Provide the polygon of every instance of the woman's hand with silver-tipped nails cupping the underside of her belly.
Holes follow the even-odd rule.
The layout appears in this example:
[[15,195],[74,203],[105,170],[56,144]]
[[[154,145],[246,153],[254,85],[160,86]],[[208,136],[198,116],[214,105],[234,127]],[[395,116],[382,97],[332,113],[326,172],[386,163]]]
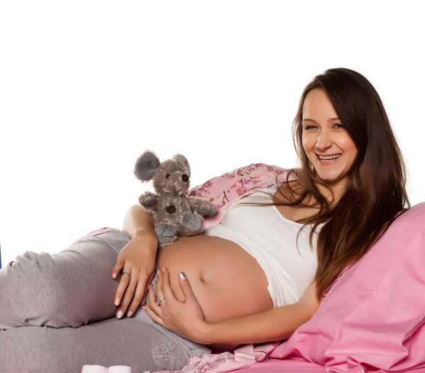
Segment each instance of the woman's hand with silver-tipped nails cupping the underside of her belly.
[[149,306],[145,306],[147,314],[155,323],[183,338],[203,343],[206,322],[189,280],[183,272],[179,273],[179,285],[185,296],[184,301],[179,301],[171,289],[168,269],[165,268],[163,271],[159,271],[155,293],[149,288]]

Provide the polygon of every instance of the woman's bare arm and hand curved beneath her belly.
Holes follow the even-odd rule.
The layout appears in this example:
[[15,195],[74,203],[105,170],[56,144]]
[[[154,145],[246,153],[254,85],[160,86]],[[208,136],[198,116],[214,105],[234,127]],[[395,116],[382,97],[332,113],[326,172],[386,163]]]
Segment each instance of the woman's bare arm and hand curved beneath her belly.
[[[156,323],[203,345],[240,345],[287,339],[300,325],[310,320],[322,302],[322,298],[317,299],[316,282],[313,282],[295,304],[220,323],[208,323],[183,273],[179,274],[179,284],[184,301],[174,296],[168,270],[159,271],[157,291],[154,294],[149,290],[146,311]],[[155,303],[155,296],[163,299],[159,305]]]

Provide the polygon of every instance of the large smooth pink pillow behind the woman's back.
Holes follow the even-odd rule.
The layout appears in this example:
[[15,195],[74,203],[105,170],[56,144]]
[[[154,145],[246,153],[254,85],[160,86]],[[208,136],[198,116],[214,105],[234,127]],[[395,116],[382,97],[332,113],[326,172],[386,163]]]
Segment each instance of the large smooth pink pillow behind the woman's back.
[[425,372],[425,203],[392,223],[331,287],[314,316],[271,352],[326,372]]

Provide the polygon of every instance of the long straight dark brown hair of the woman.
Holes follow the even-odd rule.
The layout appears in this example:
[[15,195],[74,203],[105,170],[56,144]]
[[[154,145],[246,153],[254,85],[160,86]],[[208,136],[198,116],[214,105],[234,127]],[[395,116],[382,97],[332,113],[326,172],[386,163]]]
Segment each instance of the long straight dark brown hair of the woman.
[[[318,189],[329,183],[319,179],[302,147],[302,106],[312,89],[326,92],[341,123],[357,147],[346,190],[335,204]],[[402,152],[380,96],[368,79],[351,69],[327,69],[307,84],[293,121],[293,141],[300,168],[290,169],[298,179],[297,191],[287,179],[285,206],[319,206],[319,212],[300,223],[312,224],[310,243],[317,238],[317,296],[320,297],[348,266],[357,262],[387,230],[392,221],[410,207],[406,191],[406,167]],[[289,174],[288,174],[289,177]]]

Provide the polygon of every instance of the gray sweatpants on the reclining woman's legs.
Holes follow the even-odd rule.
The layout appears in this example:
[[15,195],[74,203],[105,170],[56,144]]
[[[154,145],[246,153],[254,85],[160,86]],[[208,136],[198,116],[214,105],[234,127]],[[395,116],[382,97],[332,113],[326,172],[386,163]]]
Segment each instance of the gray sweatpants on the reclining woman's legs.
[[[120,230],[77,240],[57,254],[26,252],[0,269],[0,372],[78,373],[84,364],[134,373],[181,369],[208,347],[154,323],[140,307],[115,317]],[[156,281],[156,278],[153,280]]]

